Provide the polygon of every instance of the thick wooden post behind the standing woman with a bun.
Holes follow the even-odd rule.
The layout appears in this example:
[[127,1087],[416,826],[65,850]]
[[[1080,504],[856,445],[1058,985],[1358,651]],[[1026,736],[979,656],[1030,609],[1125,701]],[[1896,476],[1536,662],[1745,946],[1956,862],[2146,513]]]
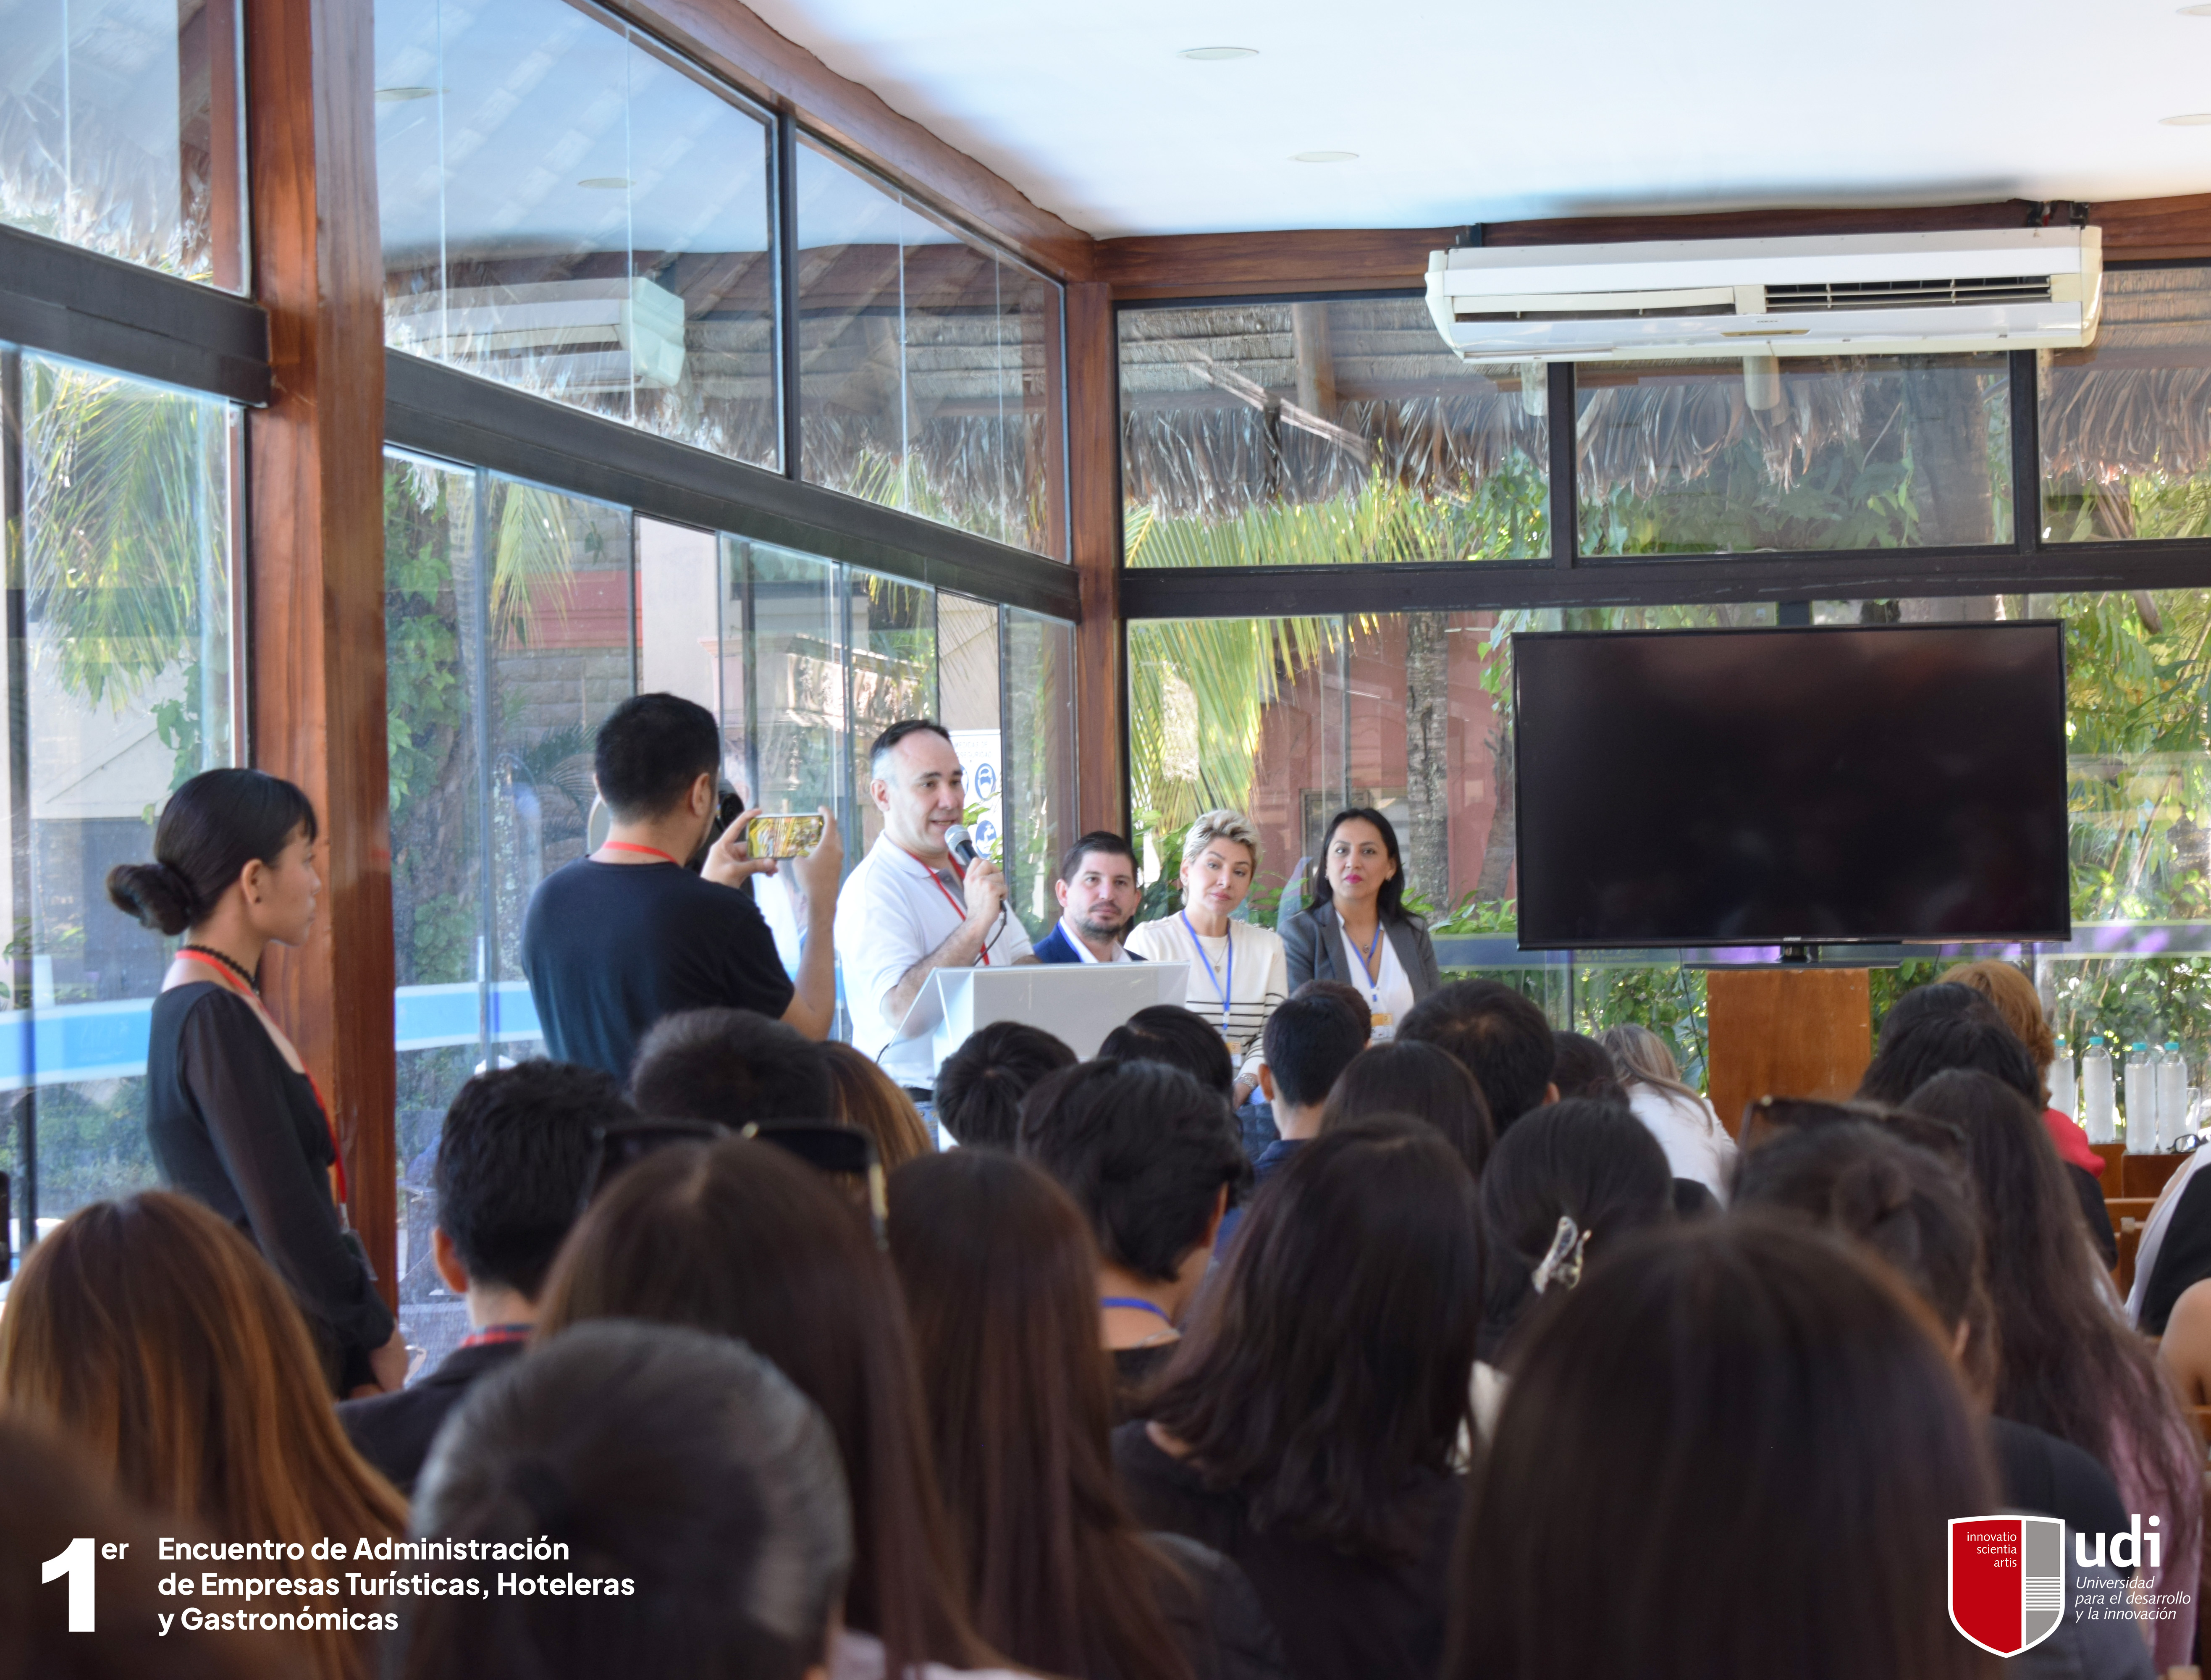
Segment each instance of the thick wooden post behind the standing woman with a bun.
[[383,252],[360,0],[248,0],[254,296],[274,396],[248,416],[252,758],[307,789],[323,904],[270,1008],[323,1088],[352,1218],[396,1302],[391,811],[385,760]]

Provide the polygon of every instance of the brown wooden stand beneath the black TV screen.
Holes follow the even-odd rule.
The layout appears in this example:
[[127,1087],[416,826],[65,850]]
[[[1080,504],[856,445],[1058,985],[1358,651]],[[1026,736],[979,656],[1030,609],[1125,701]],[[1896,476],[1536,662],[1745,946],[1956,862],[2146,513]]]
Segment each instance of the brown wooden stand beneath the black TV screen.
[[1848,1096],[1873,1061],[1866,970],[1714,968],[1705,1028],[1707,1090],[1729,1132],[1760,1096]]

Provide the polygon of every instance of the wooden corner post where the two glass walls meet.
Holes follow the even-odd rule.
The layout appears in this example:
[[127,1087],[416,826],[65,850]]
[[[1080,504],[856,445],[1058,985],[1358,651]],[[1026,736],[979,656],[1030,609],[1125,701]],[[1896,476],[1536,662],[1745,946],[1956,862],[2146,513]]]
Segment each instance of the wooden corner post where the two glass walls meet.
[[1075,630],[1077,827],[1128,833],[1121,752],[1121,400],[1112,296],[1068,285],[1068,513],[1081,623]]

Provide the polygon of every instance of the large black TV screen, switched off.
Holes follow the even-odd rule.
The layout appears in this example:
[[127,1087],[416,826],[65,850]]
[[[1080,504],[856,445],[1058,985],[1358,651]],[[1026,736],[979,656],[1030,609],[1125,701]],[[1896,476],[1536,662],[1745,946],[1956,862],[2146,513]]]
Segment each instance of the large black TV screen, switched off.
[[2063,626],[1512,637],[1519,942],[2067,939]]

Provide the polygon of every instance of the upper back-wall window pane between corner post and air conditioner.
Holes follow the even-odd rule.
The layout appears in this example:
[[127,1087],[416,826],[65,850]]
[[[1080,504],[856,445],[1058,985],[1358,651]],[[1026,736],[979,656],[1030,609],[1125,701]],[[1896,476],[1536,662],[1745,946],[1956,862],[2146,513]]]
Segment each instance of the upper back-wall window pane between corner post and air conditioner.
[[1541,369],[1477,374],[1419,298],[1121,309],[1130,566],[1550,553]]

